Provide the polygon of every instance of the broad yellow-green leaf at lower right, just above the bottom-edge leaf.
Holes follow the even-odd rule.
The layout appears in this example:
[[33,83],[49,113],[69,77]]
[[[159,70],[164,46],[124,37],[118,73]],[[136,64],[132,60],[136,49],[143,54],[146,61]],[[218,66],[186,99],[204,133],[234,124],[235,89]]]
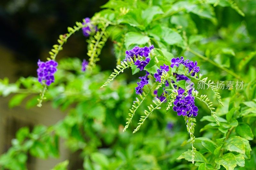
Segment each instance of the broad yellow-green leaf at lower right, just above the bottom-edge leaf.
[[241,137],[232,136],[226,140],[225,146],[228,151],[245,154],[245,146]]

